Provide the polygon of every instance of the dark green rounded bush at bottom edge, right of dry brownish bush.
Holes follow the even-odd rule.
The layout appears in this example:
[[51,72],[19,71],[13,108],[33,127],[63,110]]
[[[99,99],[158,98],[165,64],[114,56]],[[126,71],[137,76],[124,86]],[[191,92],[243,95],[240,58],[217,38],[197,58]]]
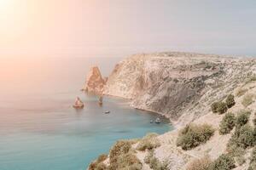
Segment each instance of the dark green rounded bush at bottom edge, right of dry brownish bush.
[[212,162],[209,170],[230,170],[234,167],[236,167],[234,158],[223,154]]

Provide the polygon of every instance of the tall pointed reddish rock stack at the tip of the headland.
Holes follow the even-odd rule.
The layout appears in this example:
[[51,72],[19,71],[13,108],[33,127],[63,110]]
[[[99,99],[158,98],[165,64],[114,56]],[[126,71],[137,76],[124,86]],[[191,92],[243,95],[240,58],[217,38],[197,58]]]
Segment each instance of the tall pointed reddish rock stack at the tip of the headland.
[[104,85],[105,79],[102,78],[99,68],[97,66],[91,67],[90,72],[86,77],[83,90],[88,93],[102,94]]

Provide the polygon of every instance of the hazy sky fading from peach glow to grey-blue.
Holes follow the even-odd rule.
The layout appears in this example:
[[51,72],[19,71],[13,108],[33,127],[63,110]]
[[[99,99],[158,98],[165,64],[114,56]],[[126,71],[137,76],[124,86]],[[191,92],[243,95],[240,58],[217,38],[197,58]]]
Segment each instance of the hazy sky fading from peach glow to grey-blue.
[[0,56],[256,55],[255,0],[0,0]]

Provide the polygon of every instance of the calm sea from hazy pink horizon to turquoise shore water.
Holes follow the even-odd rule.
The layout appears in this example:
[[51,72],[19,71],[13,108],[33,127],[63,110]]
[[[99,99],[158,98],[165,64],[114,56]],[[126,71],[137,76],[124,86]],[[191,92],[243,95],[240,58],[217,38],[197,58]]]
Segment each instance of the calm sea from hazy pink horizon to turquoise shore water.
[[[124,99],[79,91],[91,65],[108,76],[118,58],[0,58],[0,169],[82,170],[118,139],[172,130],[157,115],[129,107]],[[76,96],[82,111],[71,105]],[[110,114],[103,114],[111,111]]]

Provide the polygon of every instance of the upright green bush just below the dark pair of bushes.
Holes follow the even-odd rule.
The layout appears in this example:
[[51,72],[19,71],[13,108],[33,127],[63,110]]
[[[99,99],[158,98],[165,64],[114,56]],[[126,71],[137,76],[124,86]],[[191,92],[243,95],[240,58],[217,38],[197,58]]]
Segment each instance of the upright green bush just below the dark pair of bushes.
[[233,113],[227,113],[219,125],[219,133],[226,134],[230,133],[230,131],[235,127],[236,117]]

